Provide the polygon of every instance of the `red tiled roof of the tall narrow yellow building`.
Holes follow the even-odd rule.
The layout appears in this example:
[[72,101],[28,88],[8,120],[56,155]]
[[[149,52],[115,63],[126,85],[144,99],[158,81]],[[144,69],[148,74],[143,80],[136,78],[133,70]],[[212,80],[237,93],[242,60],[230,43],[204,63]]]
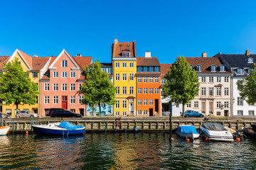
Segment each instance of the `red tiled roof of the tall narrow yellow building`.
[[129,50],[130,57],[136,57],[135,40],[134,42],[114,41],[114,44],[112,44],[112,57],[122,57],[122,50]]

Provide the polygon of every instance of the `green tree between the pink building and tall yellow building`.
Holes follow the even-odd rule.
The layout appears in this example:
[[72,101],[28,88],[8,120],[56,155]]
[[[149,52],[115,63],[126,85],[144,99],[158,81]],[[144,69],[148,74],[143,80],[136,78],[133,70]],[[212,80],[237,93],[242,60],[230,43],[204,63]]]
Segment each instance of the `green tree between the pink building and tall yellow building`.
[[100,106],[101,116],[101,103],[107,103],[114,105],[115,100],[115,87],[110,82],[107,73],[102,72],[99,60],[84,68],[85,83],[82,84],[82,90],[80,94],[83,94],[84,98],[82,104],[89,104],[95,110],[95,104]]

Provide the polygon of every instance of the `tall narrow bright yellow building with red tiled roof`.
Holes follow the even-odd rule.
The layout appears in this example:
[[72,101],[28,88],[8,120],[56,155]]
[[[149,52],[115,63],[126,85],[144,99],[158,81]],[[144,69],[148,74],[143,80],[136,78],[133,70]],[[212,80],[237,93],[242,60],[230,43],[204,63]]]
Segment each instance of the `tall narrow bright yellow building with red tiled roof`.
[[136,49],[134,42],[112,44],[113,83],[117,88],[115,116],[136,115]]

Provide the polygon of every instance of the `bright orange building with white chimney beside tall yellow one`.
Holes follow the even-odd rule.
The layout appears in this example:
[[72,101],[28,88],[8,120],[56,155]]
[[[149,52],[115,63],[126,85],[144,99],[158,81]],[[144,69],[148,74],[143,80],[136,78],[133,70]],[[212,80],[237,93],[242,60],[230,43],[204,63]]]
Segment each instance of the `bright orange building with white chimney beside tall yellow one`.
[[160,113],[161,73],[157,57],[146,52],[137,57],[137,116],[154,116]]

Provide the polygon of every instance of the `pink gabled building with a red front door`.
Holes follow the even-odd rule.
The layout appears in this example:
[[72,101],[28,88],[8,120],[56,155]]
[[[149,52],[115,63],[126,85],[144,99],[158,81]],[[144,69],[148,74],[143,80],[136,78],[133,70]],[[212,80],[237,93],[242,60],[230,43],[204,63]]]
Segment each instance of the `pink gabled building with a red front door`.
[[84,82],[83,68],[92,63],[92,57],[71,57],[63,50],[58,57],[50,57],[48,69],[41,79],[41,113],[48,115],[50,108],[65,108],[85,116],[79,94]]

